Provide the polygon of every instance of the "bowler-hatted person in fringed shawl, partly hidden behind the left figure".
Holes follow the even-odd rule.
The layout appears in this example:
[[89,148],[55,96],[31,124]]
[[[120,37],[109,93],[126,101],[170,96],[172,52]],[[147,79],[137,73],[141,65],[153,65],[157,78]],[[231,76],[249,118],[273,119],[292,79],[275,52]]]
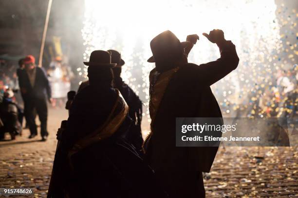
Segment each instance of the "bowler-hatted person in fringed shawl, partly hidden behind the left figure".
[[128,84],[123,82],[121,78],[122,66],[125,64],[121,59],[121,54],[113,49],[108,50],[111,53],[112,63],[117,65],[112,68],[114,74],[113,86],[118,89],[128,104],[130,110],[129,115],[132,119],[130,131],[126,135],[126,139],[131,143],[138,151],[142,150],[143,138],[141,132],[142,121],[142,101],[134,93]]

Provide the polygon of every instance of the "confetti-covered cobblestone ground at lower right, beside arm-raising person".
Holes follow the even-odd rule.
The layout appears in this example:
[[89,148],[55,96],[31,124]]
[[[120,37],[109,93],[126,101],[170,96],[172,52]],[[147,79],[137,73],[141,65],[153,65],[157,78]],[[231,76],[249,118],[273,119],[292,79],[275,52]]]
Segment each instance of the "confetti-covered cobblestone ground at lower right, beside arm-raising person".
[[298,198],[298,148],[220,148],[205,189],[207,198]]

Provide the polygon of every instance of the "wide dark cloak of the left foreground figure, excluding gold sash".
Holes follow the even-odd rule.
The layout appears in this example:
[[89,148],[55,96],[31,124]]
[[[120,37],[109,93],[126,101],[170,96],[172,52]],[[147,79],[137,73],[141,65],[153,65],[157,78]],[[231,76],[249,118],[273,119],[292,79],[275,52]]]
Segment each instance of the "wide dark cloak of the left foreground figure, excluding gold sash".
[[[70,172],[65,161],[67,151],[106,121],[116,99],[116,90],[107,84],[88,85],[75,96],[67,129],[62,133],[62,156],[56,156],[54,162],[59,163],[57,171],[64,175],[61,186],[70,184],[67,188],[71,198],[166,197],[154,181],[153,171],[122,138],[130,128],[129,115],[111,137],[74,154]],[[148,188],[151,191],[143,196]]]

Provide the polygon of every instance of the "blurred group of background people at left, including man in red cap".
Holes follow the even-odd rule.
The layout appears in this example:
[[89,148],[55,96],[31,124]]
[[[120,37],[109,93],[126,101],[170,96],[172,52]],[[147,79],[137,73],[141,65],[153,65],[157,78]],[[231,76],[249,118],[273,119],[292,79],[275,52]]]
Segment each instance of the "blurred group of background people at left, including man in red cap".
[[2,60],[0,65],[0,140],[5,140],[5,132],[10,133],[11,140],[21,135],[23,117],[25,128],[30,130],[29,138],[35,137],[38,115],[42,140],[45,141],[48,136],[47,101],[52,107],[64,106],[74,75],[61,57],[56,57],[47,71],[36,65],[32,55],[19,59],[17,64]]

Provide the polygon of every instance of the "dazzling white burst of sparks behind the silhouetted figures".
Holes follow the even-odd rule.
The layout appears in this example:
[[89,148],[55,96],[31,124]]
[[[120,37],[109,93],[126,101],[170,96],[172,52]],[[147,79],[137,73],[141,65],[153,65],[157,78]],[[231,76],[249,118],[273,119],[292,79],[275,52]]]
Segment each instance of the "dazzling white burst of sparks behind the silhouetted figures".
[[[85,6],[84,60],[89,61],[95,49],[121,52],[126,62],[123,80],[145,104],[145,129],[149,128],[150,121],[148,76],[154,67],[146,61],[151,56],[149,42],[165,30],[175,33],[181,41],[188,34],[200,36],[188,57],[188,62],[198,65],[216,60],[220,55],[217,46],[207,41],[202,33],[222,29],[225,38],[236,45],[240,58],[238,68],[212,85],[226,116],[236,116],[241,108],[250,109],[246,116],[252,116],[256,109],[254,101],[266,91],[275,92],[274,73],[286,65],[281,57],[280,26],[283,22],[277,20],[274,0],[85,0]],[[296,11],[292,14],[295,18]],[[87,78],[85,66],[77,71]],[[253,116],[258,115],[261,116],[259,113]]]

